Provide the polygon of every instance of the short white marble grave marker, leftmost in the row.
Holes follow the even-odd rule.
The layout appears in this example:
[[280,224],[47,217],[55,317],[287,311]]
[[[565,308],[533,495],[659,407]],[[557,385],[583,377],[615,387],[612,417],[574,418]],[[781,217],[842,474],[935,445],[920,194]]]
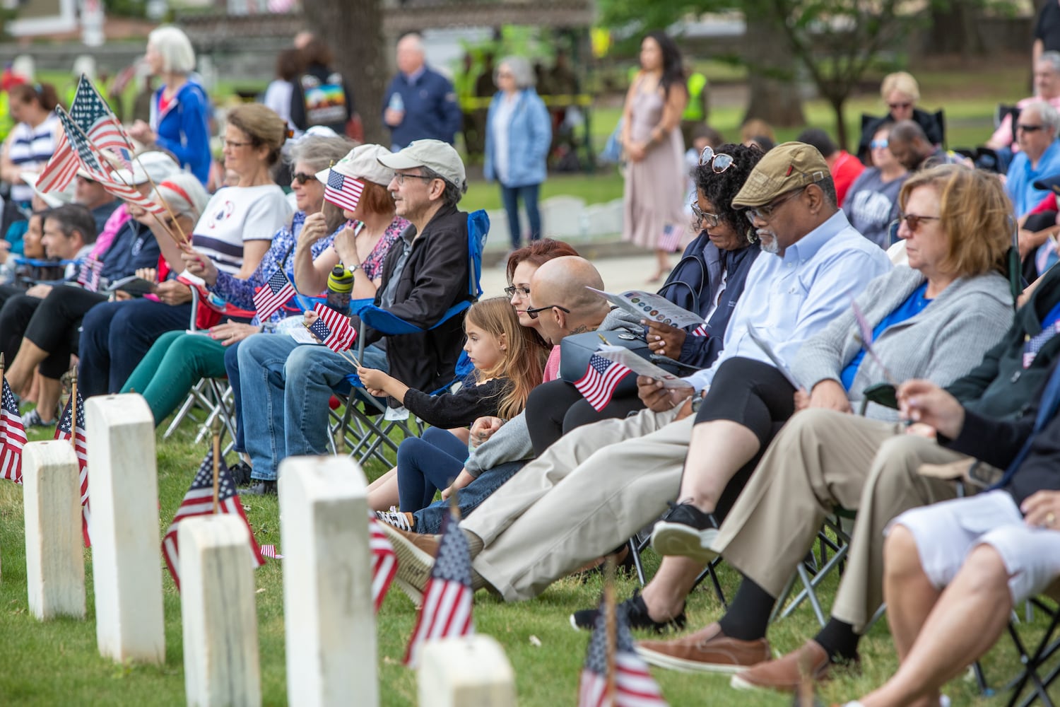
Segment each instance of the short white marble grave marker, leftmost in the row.
[[85,555],[77,455],[67,441],[30,442],[22,450],[25,579],[38,619],[85,618]]

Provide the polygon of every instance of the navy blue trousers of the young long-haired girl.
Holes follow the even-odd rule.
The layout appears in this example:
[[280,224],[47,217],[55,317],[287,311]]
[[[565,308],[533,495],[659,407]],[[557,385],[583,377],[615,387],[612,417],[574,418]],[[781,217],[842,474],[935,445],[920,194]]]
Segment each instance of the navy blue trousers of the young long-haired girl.
[[423,437],[408,437],[398,447],[398,497],[401,510],[419,511],[435,500],[467,461],[467,445],[453,432],[428,427]]

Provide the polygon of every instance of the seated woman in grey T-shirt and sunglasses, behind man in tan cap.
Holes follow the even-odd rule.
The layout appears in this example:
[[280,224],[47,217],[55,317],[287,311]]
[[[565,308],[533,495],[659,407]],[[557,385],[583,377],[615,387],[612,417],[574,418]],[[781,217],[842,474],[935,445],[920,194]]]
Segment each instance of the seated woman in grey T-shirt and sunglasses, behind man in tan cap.
[[843,211],[850,225],[881,248],[890,247],[890,223],[898,218],[898,192],[908,171],[887,148],[894,123],[884,123],[872,135],[869,166],[847,192]]

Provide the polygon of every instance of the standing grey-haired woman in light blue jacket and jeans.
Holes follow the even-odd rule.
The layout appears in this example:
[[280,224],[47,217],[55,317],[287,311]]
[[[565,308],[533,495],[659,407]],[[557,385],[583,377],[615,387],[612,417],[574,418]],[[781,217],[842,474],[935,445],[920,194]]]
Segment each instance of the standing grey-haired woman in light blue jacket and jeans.
[[545,159],[552,143],[552,122],[544,101],[534,90],[530,63],[509,56],[494,76],[500,89],[490,103],[485,119],[485,178],[500,183],[508,212],[512,249],[519,247],[519,199],[530,220],[530,240],[541,237],[537,192],[545,181]]

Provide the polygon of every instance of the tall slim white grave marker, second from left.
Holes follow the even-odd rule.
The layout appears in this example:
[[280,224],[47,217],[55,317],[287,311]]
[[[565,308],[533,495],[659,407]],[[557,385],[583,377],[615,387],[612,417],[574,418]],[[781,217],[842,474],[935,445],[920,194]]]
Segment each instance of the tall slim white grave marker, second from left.
[[136,393],[85,401],[100,654],[165,660],[155,418]]

